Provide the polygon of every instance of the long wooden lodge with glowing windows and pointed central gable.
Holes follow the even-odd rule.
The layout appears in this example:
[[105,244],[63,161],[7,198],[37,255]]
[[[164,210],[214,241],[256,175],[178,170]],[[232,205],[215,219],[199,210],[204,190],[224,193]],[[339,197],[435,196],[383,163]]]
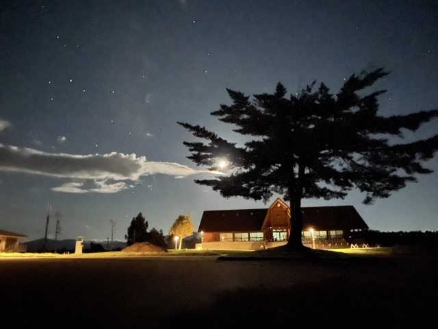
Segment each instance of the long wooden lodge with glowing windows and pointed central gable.
[[[368,225],[353,206],[303,207],[302,243],[316,248],[360,242]],[[277,198],[269,208],[207,210],[198,233],[200,249],[263,249],[284,245],[290,235],[290,207]],[[360,232],[360,233],[359,233]]]

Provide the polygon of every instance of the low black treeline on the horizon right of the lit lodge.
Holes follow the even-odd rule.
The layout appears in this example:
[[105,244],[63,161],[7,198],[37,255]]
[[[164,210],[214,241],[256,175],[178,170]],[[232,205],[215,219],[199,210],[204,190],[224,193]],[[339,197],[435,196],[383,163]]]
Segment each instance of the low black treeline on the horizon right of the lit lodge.
[[380,232],[369,230],[366,237],[370,245],[438,245],[438,231]]

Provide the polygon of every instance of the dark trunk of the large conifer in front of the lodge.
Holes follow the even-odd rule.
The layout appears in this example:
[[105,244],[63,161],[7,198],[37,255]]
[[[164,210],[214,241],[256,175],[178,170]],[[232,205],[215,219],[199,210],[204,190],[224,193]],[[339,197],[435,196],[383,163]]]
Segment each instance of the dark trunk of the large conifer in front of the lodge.
[[287,241],[287,247],[292,249],[304,249],[301,241],[302,234],[302,212],[301,212],[301,199],[302,199],[302,180],[305,174],[305,166],[300,165],[298,168],[298,179],[296,184],[292,184],[289,187],[290,195],[290,208],[291,208],[291,232],[289,241]]

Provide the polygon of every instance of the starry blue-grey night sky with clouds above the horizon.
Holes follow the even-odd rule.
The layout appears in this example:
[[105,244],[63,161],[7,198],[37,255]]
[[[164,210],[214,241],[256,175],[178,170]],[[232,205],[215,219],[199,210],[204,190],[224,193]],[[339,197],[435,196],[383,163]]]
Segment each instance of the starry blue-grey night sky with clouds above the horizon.
[[[177,121],[242,143],[209,113],[247,95],[289,93],[352,73],[391,71],[373,87],[380,114],[438,108],[437,1],[1,1],[0,229],[44,236],[47,204],[61,239],[124,240],[138,212],[168,232],[192,212],[265,208],[224,199],[194,179],[213,178],[185,158],[194,138]],[[404,141],[437,134],[438,119]],[[402,142],[401,138],[394,143]],[[374,230],[438,230],[438,160],[417,184],[351,204]],[[274,201],[272,198],[271,201]],[[268,204],[269,205],[269,204]]]

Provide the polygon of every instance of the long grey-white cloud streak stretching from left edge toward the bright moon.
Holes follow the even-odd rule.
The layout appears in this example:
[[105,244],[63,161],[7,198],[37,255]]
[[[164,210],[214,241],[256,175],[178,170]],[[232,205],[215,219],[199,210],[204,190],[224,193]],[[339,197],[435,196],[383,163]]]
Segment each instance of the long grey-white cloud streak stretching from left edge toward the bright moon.
[[[194,170],[175,162],[147,161],[144,156],[110,154],[52,154],[27,147],[0,144],[0,171],[13,171],[75,180],[53,191],[67,193],[116,193],[132,188],[124,181],[138,182],[142,176],[158,173],[177,178],[216,171]],[[85,182],[93,186],[85,188]]]

